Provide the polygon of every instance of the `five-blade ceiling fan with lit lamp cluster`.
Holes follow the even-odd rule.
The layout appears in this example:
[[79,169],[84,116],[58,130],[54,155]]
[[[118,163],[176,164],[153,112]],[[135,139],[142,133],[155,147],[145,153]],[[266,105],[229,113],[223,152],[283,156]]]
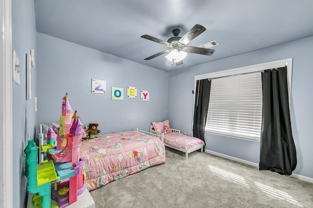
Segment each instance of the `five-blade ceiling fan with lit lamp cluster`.
[[198,35],[203,33],[205,30],[206,30],[205,27],[203,27],[200,24],[196,24],[185,35],[183,35],[182,37],[179,37],[180,30],[174,29],[172,31],[174,37],[167,40],[167,42],[162,41],[158,38],[152,37],[150,35],[142,35],[140,36],[141,38],[160,43],[162,45],[165,45],[168,48],[168,50],[158,52],[152,56],[149,56],[148,58],[145,58],[145,60],[151,60],[162,54],[168,53],[167,56],[165,57],[169,61],[171,61],[172,64],[175,62],[176,65],[180,65],[183,63],[182,60],[187,56],[187,53],[196,53],[196,54],[211,56],[215,51],[214,49],[186,46],[187,43],[192,41],[194,38],[196,38]]

